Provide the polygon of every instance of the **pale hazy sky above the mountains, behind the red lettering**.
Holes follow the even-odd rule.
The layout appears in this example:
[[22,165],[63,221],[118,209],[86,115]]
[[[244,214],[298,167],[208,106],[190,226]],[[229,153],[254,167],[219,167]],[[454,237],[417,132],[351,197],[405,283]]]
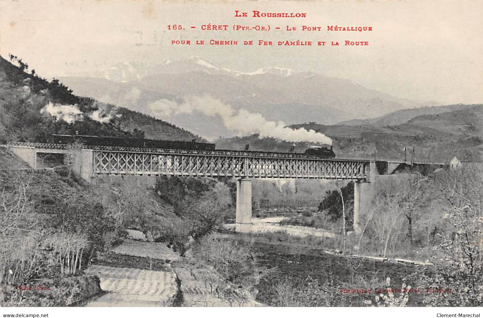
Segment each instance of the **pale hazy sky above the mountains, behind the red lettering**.
[[[240,18],[235,10],[302,12],[306,18]],[[397,97],[483,102],[483,0],[223,1],[0,0],[0,54],[22,57],[42,76],[156,64],[191,55],[229,69],[279,66],[341,77]],[[204,31],[203,24],[268,26],[264,31]],[[168,30],[181,24],[182,31]],[[320,26],[319,32],[274,27]],[[327,25],[371,32],[327,32]],[[189,28],[196,26],[196,29]],[[174,46],[171,40],[327,41],[326,46]],[[331,47],[330,41],[369,41]],[[341,43],[342,44],[342,43]]]

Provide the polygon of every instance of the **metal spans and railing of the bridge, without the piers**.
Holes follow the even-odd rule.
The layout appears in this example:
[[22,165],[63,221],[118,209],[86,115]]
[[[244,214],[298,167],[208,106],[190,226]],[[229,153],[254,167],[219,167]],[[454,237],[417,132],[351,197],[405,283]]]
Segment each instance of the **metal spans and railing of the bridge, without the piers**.
[[[65,144],[10,142],[9,147],[33,147],[41,152],[71,152]],[[93,174],[174,175],[235,178],[312,178],[365,180],[369,160],[323,159],[302,153],[248,151],[188,151],[85,146],[92,152]]]

